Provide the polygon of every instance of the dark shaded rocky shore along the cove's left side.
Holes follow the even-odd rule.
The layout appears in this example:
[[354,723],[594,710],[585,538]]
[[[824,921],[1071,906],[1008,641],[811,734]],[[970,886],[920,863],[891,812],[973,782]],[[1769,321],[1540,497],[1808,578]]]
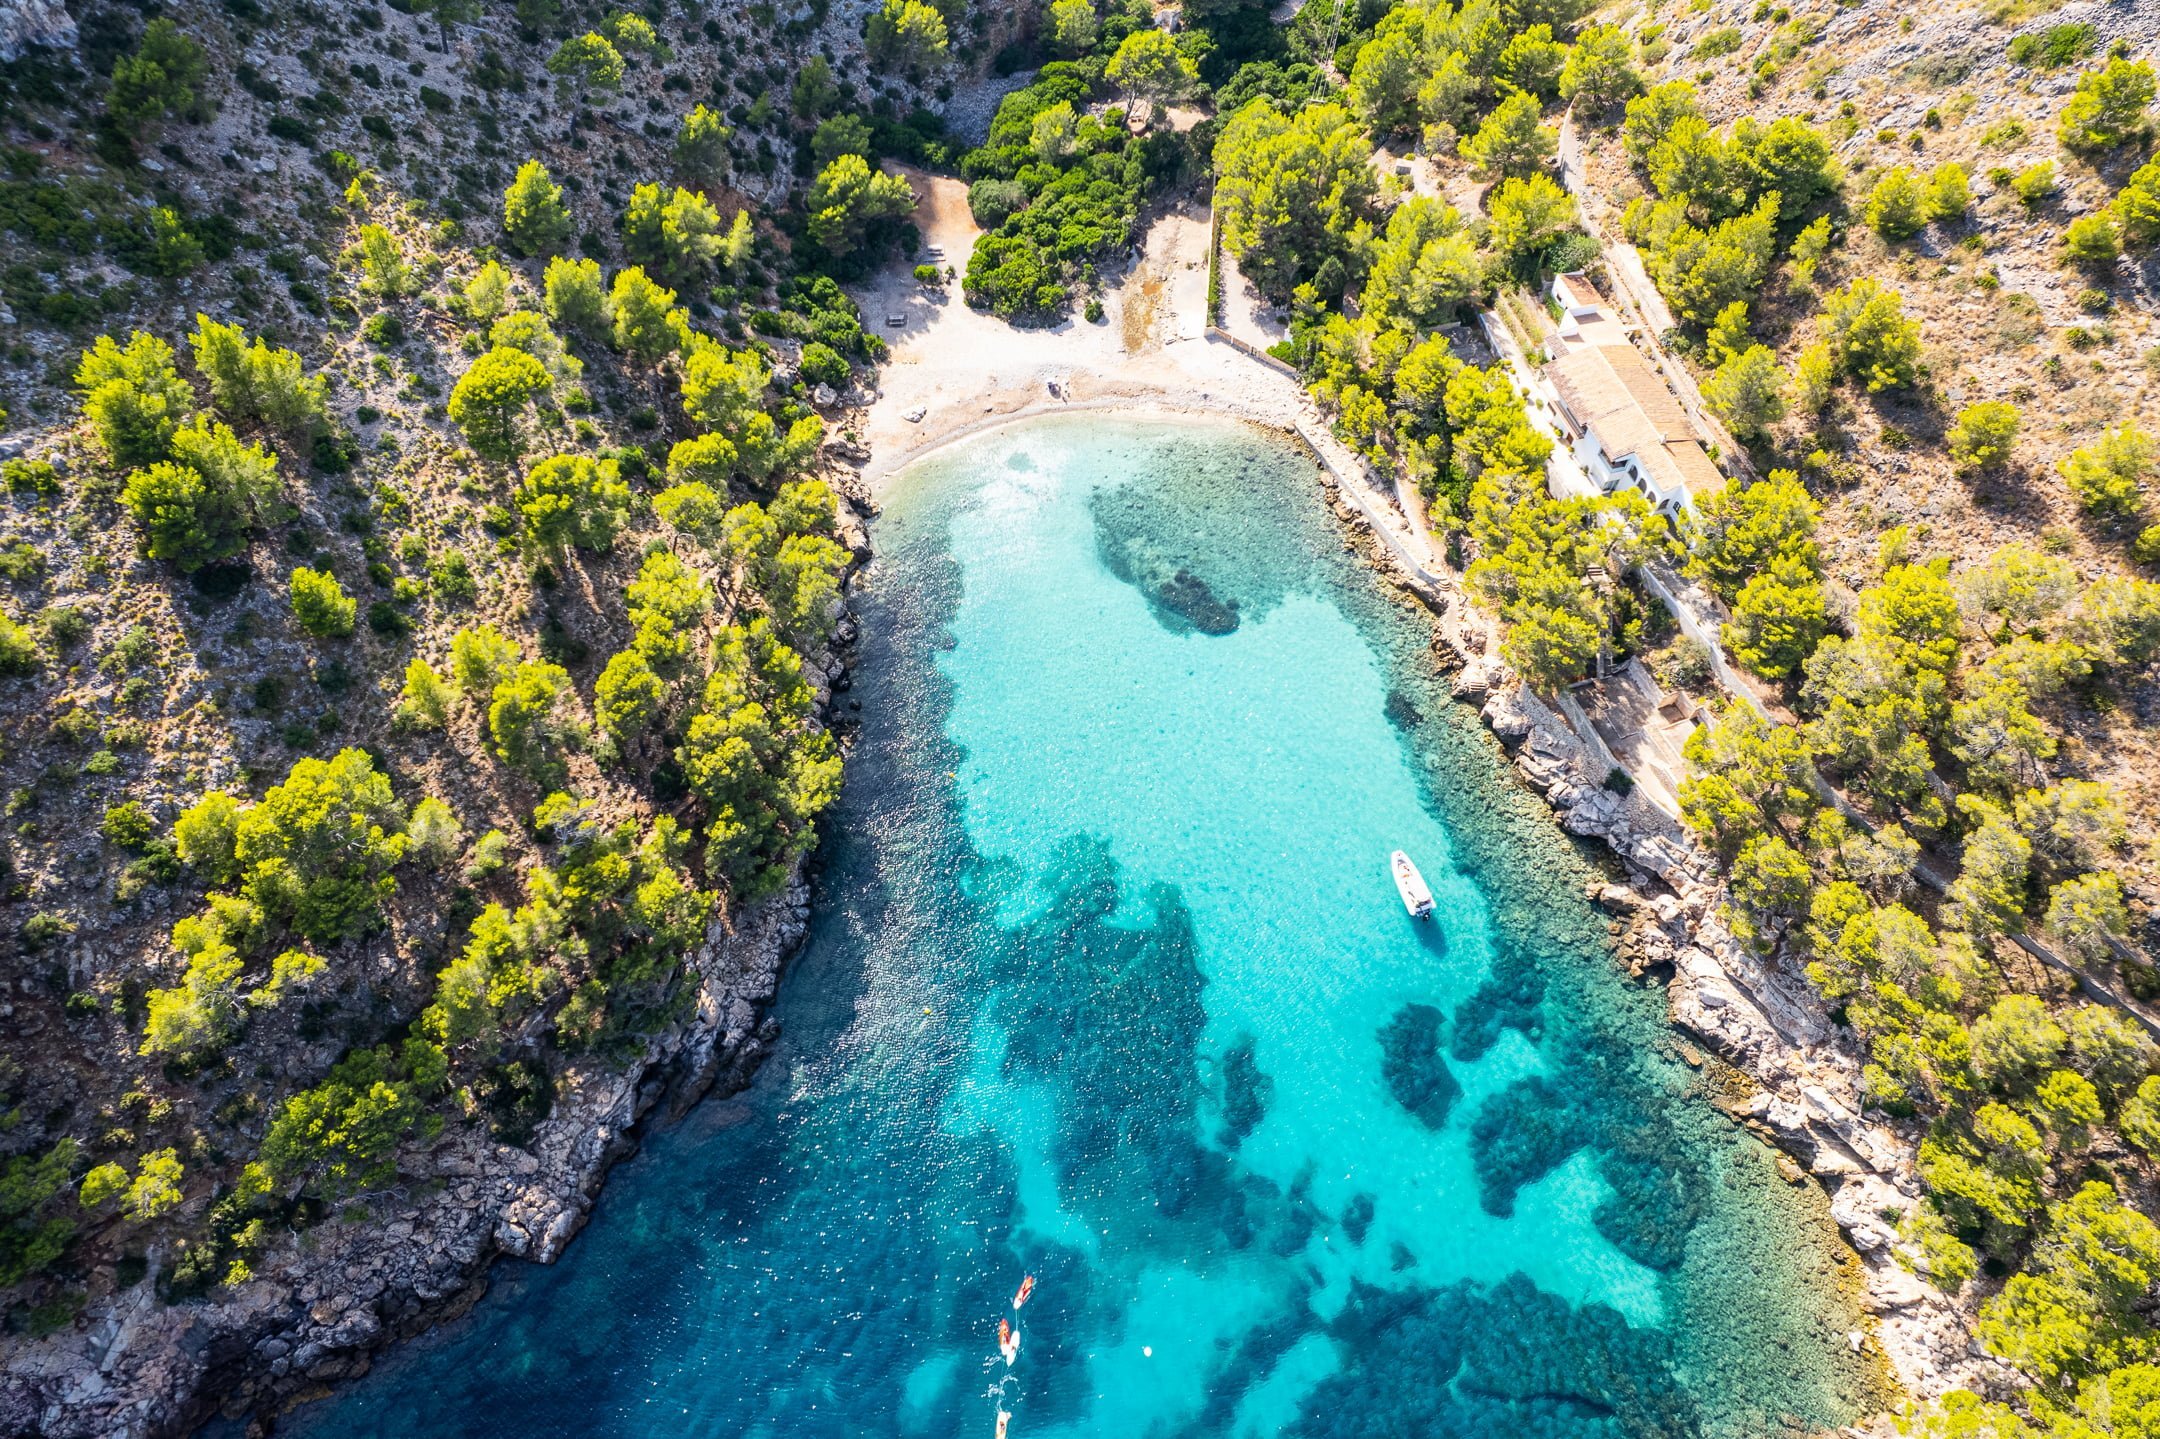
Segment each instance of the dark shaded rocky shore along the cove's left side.
[[[868,536],[845,503],[840,538],[860,568]],[[853,637],[842,616],[812,674],[827,724]],[[0,1368],[0,1435],[175,1439],[218,1415],[268,1433],[279,1413],[365,1374],[391,1344],[471,1309],[497,1260],[553,1264],[648,1121],[750,1085],[778,1037],[767,1011],[808,923],[799,862],[782,895],[717,918],[689,955],[689,1016],[629,1065],[566,1070],[529,1145],[447,1130],[367,1219],[333,1216],[298,1234],[255,1279],[207,1301],[162,1303],[153,1253],[151,1281],[13,1348]]]

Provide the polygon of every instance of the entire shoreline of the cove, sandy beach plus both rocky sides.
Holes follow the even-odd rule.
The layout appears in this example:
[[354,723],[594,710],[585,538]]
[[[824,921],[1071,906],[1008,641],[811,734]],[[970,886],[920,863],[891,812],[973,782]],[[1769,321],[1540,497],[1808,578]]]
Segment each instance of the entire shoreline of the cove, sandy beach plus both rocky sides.
[[[931,184],[944,188],[944,205],[931,210],[950,225],[950,190],[959,186]],[[959,203],[966,216],[963,188]],[[972,231],[972,218],[966,227]],[[862,428],[860,441],[849,434],[860,462],[827,465],[836,488],[855,510],[875,514],[892,480],[916,460],[1063,413],[1236,419],[1296,439],[1315,462],[1328,508],[1363,534],[1352,549],[1376,579],[1410,590],[1434,616],[1447,650],[1490,678],[1482,720],[1516,776],[1564,830],[1603,840],[1629,873],[1629,884],[1592,897],[1626,925],[1614,957],[1637,977],[1670,968],[1674,1031],[1700,1039],[1756,1087],[1722,1108],[1791,1156],[1788,1178],[1814,1175],[1832,1193],[1840,1240],[1862,1264],[1873,1344],[1896,1383],[1914,1398],[1987,1385],[1996,1370],[1970,1355],[1970,1312],[1896,1264],[1894,1229],[1879,1210],[1918,1193],[1914,1145],[1860,1117],[1851,1102],[1858,1057],[1814,1013],[1819,1005],[1793,992],[1791,977],[1747,957],[1724,931],[1724,890],[1709,858],[1663,817],[1637,812],[1646,810],[1639,795],[1620,802],[1590,778],[1566,720],[1488,655],[1497,622],[1452,577],[1419,570],[1406,538],[1423,538],[1408,523],[1395,534],[1395,497],[1335,443],[1302,385],[1212,339],[1197,309],[1179,309],[1205,294],[1203,253],[1192,253],[1205,238],[1205,223],[1188,214],[1158,218],[1119,292],[1106,296],[1115,307],[1106,324],[1069,320],[1015,331],[946,294],[920,328],[894,344],[883,387],[851,417]],[[950,231],[944,242],[961,244]],[[894,272],[907,283],[905,270]],[[890,285],[894,274],[881,279]],[[1004,339],[989,348],[972,341],[970,331],[983,326]],[[1117,346],[1134,339],[1136,348]],[[985,376],[996,378],[985,387]],[[868,555],[866,527],[849,506],[842,538],[858,560]],[[842,622],[840,640],[821,657],[827,724],[851,624]],[[274,1417],[365,1374],[391,1344],[460,1318],[488,1290],[499,1260],[559,1258],[613,1165],[642,1145],[650,1126],[739,1091],[769,1054],[771,998],[808,931],[806,871],[808,862],[799,862],[786,892],[743,914],[739,929],[708,931],[691,955],[696,1013],[654,1037],[644,1059],[616,1074],[566,1076],[557,1111],[529,1152],[477,1134],[451,1137],[415,1165],[410,1197],[391,1214],[311,1229],[305,1245],[266,1266],[264,1279],[225,1299],[164,1305],[151,1286],[117,1296],[89,1331],[26,1346],[0,1387],[0,1428],[19,1415],[26,1433],[151,1439],[194,1433],[220,1413]],[[1864,1422],[1873,1420],[1879,1415]]]

